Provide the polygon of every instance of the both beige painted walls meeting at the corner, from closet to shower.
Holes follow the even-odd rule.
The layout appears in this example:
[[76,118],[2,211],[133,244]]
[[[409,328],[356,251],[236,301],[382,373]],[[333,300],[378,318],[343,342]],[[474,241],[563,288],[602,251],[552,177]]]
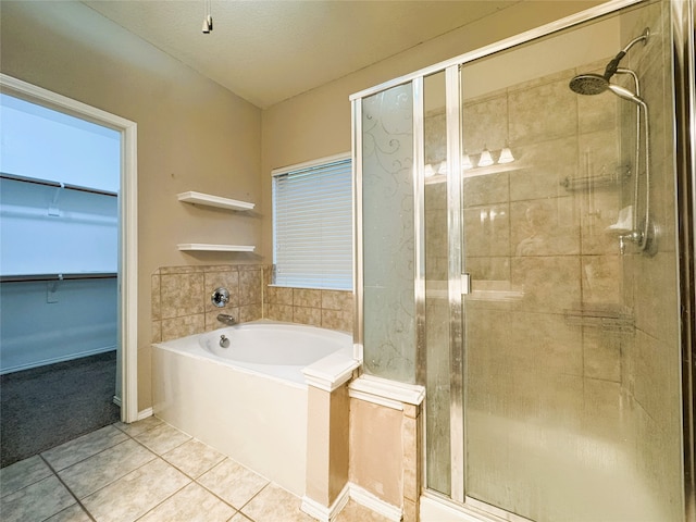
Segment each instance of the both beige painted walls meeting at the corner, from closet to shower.
[[[139,409],[151,406],[150,276],[160,266],[270,262],[270,172],[350,150],[350,94],[598,3],[524,1],[262,113],[79,3],[3,1],[2,73],[138,124]],[[257,210],[183,204],[175,195],[185,190]],[[191,256],[177,243],[254,244],[260,256]]]

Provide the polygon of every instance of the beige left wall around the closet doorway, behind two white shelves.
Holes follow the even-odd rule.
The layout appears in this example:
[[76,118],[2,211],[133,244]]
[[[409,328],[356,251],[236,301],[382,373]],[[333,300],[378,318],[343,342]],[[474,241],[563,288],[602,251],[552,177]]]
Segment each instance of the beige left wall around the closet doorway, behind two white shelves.
[[261,219],[179,203],[176,194],[197,190],[259,202],[261,111],[84,5],[3,1],[1,23],[2,73],[138,124],[142,410],[152,402],[151,274],[165,265],[260,261],[179,252],[177,243],[258,244]]

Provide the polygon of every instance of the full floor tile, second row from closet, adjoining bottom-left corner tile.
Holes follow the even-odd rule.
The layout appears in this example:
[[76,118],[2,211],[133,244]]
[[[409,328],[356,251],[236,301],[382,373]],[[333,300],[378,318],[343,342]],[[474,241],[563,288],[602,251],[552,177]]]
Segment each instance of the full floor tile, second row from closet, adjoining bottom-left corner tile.
[[152,451],[128,439],[64,469],[59,475],[77,498],[85,498],[153,459],[157,456]]

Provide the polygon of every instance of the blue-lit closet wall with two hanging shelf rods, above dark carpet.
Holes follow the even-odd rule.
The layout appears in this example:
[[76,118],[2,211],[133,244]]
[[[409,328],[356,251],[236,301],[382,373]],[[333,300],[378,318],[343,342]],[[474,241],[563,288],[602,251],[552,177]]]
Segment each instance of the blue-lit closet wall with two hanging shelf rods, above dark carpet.
[[121,138],[0,97],[0,373],[114,350]]

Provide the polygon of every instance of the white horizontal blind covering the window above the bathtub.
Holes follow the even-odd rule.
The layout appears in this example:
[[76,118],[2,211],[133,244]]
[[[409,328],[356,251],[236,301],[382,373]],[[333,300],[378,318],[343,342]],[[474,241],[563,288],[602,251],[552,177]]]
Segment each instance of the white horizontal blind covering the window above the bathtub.
[[350,158],[274,173],[275,284],[352,288]]

